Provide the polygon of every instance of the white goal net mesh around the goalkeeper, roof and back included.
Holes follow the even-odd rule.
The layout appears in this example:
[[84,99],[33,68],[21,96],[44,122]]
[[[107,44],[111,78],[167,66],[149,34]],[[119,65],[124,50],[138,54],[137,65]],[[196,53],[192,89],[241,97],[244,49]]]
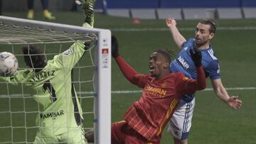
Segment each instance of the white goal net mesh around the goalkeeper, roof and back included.
[[[90,33],[68,33],[30,26],[0,23],[0,52],[12,52],[18,59],[19,70],[26,69],[21,46],[33,44],[43,49],[47,59],[70,48],[76,40],[97,40]],[[95,91],[93,87],[95,62],[90,49],[73,69],[73,84],[82,106],[85,131],[93,128]],[[23,84],[16,86],[0,80],[0,143],[33,143],[38,126],[36,116],[41,105],[34,101]]]

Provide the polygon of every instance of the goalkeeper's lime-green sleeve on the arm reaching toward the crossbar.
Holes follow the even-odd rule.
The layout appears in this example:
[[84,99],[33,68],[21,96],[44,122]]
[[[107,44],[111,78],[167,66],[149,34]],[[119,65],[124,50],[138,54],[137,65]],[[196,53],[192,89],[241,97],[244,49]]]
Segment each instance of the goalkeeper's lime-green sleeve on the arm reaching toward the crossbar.
[[78,63],[85,52],[85,45],[78,40],[68,50],[56,55],[53,60],[58,67],[68,67],[72,69]]

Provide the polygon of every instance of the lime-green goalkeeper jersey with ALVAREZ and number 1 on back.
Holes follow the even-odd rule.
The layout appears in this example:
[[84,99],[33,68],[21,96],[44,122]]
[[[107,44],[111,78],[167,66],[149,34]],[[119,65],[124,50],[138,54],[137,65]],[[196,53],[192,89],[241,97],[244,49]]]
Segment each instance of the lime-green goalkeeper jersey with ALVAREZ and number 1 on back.
[[34,99],[43,106],[36,118],[41,136],[67,133],[80,126],[82,109],[71,82],[71,72],[84,54],[84,48],[84,43],[77,41],[48,60],[40,72],[19,70],[13,77],[1,77],[11,84],[22,83],[31,88]]

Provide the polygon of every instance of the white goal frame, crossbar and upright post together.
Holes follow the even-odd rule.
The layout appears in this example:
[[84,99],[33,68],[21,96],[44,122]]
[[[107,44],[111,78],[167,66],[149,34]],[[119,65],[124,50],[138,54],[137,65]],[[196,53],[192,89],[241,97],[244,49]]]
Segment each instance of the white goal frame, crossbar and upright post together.
[[[60,23],[33,21],[22,18],[0,16],[0,22],[14,26],[64,31],[65,33],[93,33],[97,35],[95,45],[95,143],[111,143],[111,32],[100,28],[83,28]],[[104,51],[107,50],[105,53]]]

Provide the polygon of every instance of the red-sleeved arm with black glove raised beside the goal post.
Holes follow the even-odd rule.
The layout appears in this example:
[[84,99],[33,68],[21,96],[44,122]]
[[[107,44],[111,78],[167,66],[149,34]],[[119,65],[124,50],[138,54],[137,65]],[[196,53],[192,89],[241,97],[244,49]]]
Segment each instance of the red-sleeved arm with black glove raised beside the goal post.
[[137,75],[137,72],[119,55],[119,44],[117,38],[112,36],[111,39],[112,57],[116,60],[120,70],[124,74],[124,77],[126,77],[129,82],[136,84],[136,82],[134,82],[134,78]]

